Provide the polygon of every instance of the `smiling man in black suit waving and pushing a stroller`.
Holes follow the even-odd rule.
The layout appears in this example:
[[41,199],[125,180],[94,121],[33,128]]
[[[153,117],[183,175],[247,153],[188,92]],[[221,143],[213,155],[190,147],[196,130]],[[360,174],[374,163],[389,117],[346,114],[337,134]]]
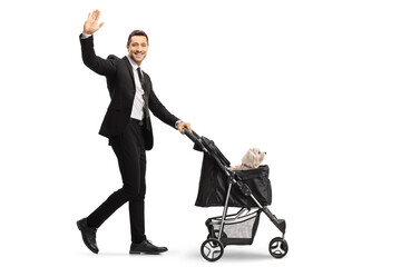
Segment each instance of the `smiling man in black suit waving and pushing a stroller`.
[[95,10],[84,24],[80,34],[84,63],[98,75],[106,76],[110,105],[99,134],[109,139],[118,159],[123,188],[113,192],[87,218],[77,221],[85,245],[95,254],[99,251],[96,231],[119,207],[129,201],[131,230],[130,254],[159,254],[166,247],[157,247],[145,236],[144,199],[146,191],[146,154],[153,147],[149,110],[165,123],[183,134],[190,125],[172,115],[156,97],[150,78],[140,70],[148,51],[148,38],[144,31],[133,31],[127,41],[128,56],[123,59],[109,56],[97,57],[94,50],[94,33],[98,31],[100,11]]

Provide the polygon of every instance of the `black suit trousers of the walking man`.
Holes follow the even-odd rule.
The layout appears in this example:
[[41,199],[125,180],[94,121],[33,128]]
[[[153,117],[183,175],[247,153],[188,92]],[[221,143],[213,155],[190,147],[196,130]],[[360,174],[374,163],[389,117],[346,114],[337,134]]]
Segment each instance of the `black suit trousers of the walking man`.
[[130,119],[125,131],[109,138],[109,145],[118,159],[123,187],[113,192],[87,218],[89,227],[100,227],[119,207],[129,201],[131,241],[139,244],[145,236],[145,172],[146,152],[144,126],[141,121]]

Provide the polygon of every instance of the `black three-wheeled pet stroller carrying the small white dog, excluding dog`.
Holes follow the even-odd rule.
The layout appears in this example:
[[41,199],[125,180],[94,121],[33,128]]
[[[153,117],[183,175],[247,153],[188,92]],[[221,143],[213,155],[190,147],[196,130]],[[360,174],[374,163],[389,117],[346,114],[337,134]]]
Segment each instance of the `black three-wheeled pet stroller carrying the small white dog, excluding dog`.
[[[184,132],[194,141],[194,149],[204,152],[195,206],[224,207],[223,216],[206,220],[208,235],[200,246],[202,256],[208,261],[216,261],[227,245],[252,245],[260,215],[265,214],[282,233],[282,237],[271,240],[270,254],[275,258],[284,257],[288,251],[284,239],[285,220],[277,219],[267,208],[272,204],[268,166],[232,171],[228,169],[229,161],[212,140],[187,129]],[[239,211],[227,215],[228,207],[239,208]]]

